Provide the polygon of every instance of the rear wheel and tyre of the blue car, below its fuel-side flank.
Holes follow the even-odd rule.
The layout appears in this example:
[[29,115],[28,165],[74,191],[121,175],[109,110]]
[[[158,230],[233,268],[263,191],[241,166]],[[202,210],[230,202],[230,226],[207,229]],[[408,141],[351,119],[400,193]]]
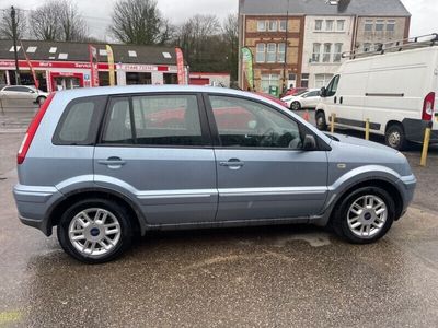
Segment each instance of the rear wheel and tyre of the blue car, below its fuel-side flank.
[[128,211],[117,202],[88,199],[65,211],[57,235],[67,254],[95,265],[111,261],[129,248],[132,225]]

